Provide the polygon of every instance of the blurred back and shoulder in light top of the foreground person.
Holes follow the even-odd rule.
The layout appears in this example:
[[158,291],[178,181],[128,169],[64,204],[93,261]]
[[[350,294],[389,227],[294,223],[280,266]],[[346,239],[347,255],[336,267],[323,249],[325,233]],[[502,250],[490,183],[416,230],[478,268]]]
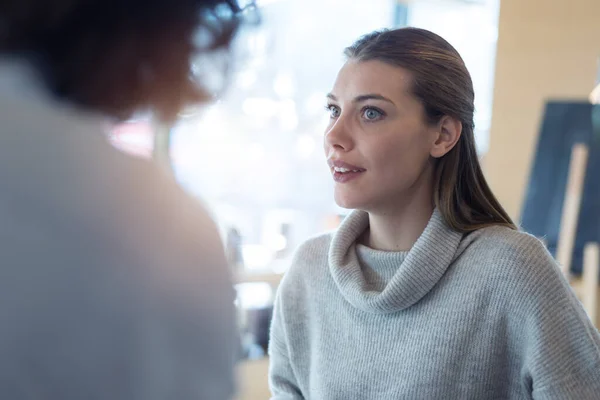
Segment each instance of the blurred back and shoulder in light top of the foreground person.
[[0,398],[230,398],[234,290],[214,223],[110,146],[106,109],[57,99],[1,45]]

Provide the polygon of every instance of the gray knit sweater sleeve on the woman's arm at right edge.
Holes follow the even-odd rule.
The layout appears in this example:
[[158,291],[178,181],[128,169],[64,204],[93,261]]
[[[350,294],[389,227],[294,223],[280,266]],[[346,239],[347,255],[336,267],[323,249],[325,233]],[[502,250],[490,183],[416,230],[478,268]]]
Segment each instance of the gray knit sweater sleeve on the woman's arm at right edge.
[[[522,308],[523,378],[533,399],[600,398],[600,335],[552,256],[531,249],[534,277]],[[531,265],[531,264],[530,264]]]

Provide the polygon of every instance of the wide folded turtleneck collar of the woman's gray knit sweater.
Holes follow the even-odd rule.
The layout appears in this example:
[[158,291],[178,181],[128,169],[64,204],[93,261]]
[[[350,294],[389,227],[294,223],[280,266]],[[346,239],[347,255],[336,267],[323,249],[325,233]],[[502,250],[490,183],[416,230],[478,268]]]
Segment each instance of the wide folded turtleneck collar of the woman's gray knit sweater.
[[[410,251],[371,250],[365,256],[364,247],[357,251],[357,239],[368,226],[364,211],[352,211],[344,219],[332,238],[329,270],[350,304],[375,314],[401,311],[421,300],[452,263],[462,238],[436,209]],[[383,285],[374,285],[365,276],[366,271],[387,270],[393,264],[396,271]]]

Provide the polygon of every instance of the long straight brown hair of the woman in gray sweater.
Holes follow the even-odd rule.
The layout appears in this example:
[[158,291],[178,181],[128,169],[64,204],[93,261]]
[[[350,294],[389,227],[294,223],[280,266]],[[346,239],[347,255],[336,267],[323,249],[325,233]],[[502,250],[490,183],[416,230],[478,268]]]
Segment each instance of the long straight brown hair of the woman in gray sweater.
[[412,93],[427,122],[447,115],[462,123],[458,143],[437,161],[434,203],[446,222],[460,232],[490,225],[517,229],[488,186],[475,148],[474,91],[464,61],[446,40],[424,29],[376,31],[361,37],[344,54],[357,61],[381,61],[414,77]]

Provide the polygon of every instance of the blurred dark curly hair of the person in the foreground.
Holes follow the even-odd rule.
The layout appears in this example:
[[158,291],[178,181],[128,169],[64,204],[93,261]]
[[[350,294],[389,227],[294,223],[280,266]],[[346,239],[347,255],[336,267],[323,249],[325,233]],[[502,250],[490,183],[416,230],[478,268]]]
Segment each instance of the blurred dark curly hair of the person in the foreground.
[[56,96],[117,118],[174,118],[210,93],[195,55],[228,50],[234,0],[2,0],[0,55],[23,58]]

